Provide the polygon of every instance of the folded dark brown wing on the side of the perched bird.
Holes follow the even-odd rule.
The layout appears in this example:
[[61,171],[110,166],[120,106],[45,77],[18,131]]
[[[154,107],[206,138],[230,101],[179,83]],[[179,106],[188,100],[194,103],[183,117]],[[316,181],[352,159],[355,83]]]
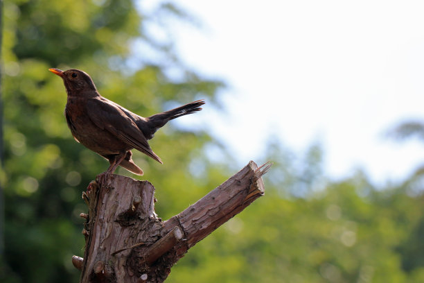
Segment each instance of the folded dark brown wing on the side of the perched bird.
[[98,128],[111,132],[121,141],[162,163],[136,123],[115,104],[103,97],[89,98],[86,105],[87,114]]

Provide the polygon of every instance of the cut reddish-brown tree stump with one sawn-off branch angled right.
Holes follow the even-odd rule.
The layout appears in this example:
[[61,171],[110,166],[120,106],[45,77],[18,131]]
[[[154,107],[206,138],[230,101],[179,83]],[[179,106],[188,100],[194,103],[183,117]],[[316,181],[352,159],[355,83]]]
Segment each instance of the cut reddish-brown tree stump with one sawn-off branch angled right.
[[271,164],[249,162],[183,212],[162,222],[154,213],[154,187],[121,175],[91,182],[83,198],[84,259],[74,256],[80,282],[164,282],[189,248],[263,196],[261,176]]

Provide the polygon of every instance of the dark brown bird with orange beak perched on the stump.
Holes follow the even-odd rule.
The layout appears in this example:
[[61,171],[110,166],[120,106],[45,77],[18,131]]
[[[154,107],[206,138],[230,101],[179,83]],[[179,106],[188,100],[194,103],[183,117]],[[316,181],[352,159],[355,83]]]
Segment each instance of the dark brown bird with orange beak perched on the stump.
[[80,144],[109,160],[105,173],[118,165],[137,175],[143,171],[131,158],[132,148],[162,163],[148,144],[168,121],[202,110],[204,100],[144,118],[100,96],[90,76],[78,69],[48,69],[63,79],[68,101],[64,110],[69,129]]

